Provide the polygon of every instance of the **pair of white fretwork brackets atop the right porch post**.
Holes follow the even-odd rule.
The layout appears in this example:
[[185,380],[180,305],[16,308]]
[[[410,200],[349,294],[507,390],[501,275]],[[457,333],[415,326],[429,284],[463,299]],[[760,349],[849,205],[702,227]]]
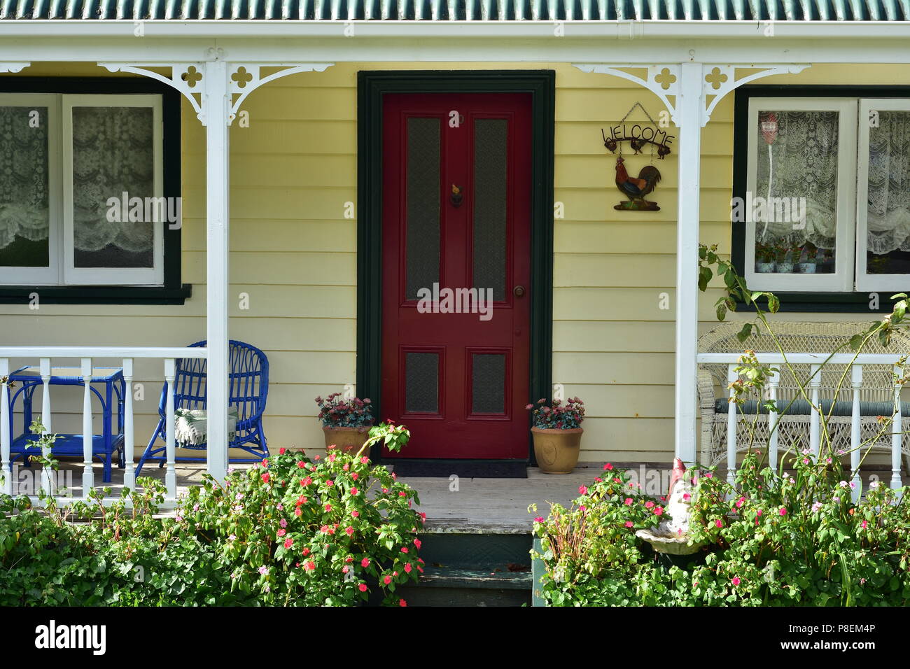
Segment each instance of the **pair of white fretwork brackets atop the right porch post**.
[[[582,72],[595,72],[602,75],[620,76],[627,81],[644,86],[655,96],[661,98],[662,103],[670,112],[672,122],[679,127],[680,122],[676,115],[676,101],[679,99],[680,66],[679,64],[635,66],[635,65],[607,65],[602,63],[575,64]],[[794,75],[802,72],[808,65],[710,65],[702,64],[702,95],[704,107],[702,110],[702,127],[711,120],[714,108],[723,96],[730,91],[748,84],[755,79],[771,75]],[[627,70],[646,70],[644,78],[627,72]],[[757,70],[748,75],[736,78],[736,70]],[[672,97],[672,101],[670,98]],[[710,98],[710,99],[709,99]]]

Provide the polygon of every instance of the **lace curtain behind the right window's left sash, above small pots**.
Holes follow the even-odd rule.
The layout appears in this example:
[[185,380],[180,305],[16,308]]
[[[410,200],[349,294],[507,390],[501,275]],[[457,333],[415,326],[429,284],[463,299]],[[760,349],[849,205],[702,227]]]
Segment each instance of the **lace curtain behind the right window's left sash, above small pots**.
[[805,228],[794,229],[793,220],[756,221],[756,241],[793,246],[809,241],[817,248],[834,248],[837,231],[838,113],[774,112],[777,135],[771,144],[763,137],[763,114],[758,120],[757,192],[752,197],[805,198]]

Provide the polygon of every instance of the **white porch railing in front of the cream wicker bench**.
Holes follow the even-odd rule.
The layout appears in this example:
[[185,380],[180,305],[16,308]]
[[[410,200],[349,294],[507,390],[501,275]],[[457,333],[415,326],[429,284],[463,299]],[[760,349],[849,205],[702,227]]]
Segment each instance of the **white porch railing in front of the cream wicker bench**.
[[[734,380],[739,378],[739,374],[736,372],[736,368],[739,367],[738,360],[742,354],[740,353],[699,353],[697,356],[697,361],[700,364],[726,364],[727,366],[727,380],[732,383]],[[764,365],[773,365],[780,366],[784,364],[784,356],[780,353],[763,353],[756,352],[755,357],[761,364]],[[852,390],[852,400],[853,400],[853,412],[851,414],[850,421],[850,469],[851,469],[851,481],[854,482],[854,498],[858,498],[862,492],[862,485],[860,481],[860,461],[862,457],[862,452],[868,447],[868,444],[864,445],[861,441],[861,423],[862,417],[860,412],[860,394],[863,386],[863,367],[864,365],[891,365],[894,367],[896,379],[901,379],[904,376],[904,370],[896,365],[897,361],[900,359],[900,355],[890,354],[890,353],[860,353],[858,355],[854,353],[787,353],[786,361],[791,365],[809,365],[810,367],[810,380],[807,390],[809,399],[812,400],[811,415],[809,421],[809,448],[814,453],[818,455],[819,448],[821,445],[820,438],[820,424],[821,416],[819,414],[819,408],[821,403],[819,400],[819,390],[821,387],[821,373],[823,363],[825,365],[851,365],[850,375],[849,375],[849,388]],[[769,387],[767,389],[766,400],[777,400],[777,390],[780,382],[780,374],[773,373],[769,380]],[[844,383],[844,390],[846,389],[847,383]],[[891,482],[890,485],[893,489],[898,489],[903,486],[901,481],[901,441],[903,439],[903,430],[902,430],[902,419],[901,419],[901,389],[902,385],[900,383],[894,384],[894,411],[892,412],[890,419],[891,425],[888,428],[886,434],[891,436]],[[727,391],[728,397],[733,397],[733,390]],[[733,482],[734,473],[736,471],[736,423],[737,416],[740,415],[736,411],[735,407],[731,406],[727,411],[727,454],[726,454],[726,466],[727,466],[727,481]],[[768,463],[773,469],[777,469],[778,462],[778,438],[779,431],[776,429],[779,425],[780,415],[776,411],[768,411],[767,413],[768,420],[768,429],[770,433],[770,439],[768,442]],[[743,419],[748,419],[748,416],[743,416]],[[861,448],[862,446],[862,448]],[[862,451],[862,452],[861,452]]]

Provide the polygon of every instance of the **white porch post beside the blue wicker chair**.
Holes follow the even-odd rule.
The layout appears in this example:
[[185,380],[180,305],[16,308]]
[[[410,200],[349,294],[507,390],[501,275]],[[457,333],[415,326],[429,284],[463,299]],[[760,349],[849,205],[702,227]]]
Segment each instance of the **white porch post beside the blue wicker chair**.
[[223,481],[227,475],[227,268],[229,212],[229,149],[227,64],[207,61],[202,77],[206,124],[206,339],[208,473]]

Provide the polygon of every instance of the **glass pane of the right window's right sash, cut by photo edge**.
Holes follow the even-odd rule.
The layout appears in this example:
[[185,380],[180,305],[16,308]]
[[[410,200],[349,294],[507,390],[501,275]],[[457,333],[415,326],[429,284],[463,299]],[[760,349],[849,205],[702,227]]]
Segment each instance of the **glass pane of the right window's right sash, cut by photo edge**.
[[867,273],[910,274],[910,112],[870,123],[866,211]]

